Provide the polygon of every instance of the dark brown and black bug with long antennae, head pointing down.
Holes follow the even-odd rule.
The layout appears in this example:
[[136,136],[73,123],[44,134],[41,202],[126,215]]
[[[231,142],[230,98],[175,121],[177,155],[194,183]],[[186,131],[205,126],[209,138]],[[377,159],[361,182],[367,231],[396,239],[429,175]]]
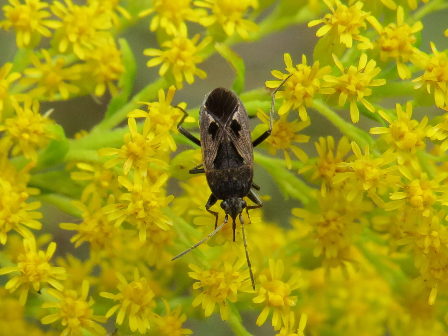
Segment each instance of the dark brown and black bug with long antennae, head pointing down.
[[[258,146],[271,134],[275,94],[288,78],[284,79],[280,86],[272,92],[269,128],[254,141],[251,140],[250,136],[249,116],[246,108],[232,90],[219,87],[205,96],[199,110],[201,140],[182,127],[188,113],[177,106],[184,112],[177,129],[186,138],[200,146],[202,150],[202,163],[190,169],[190,174],[205,173],[211,190],[205,208],[215,216],[215,230],[172,260],[180,258],[212,237],[227,223],[229,216],[232,219],[233,241],[235,241],[236,219],[238,217],[241,223],[250,280],[253,289],[255,289],[242,212],[246,209],[247,215],[249,215],[250,209],[263,206],[263,202],[254,192],[254,190],[260,190],[260,188],[252,181],[254,177],[253,147]],[[243,197],[249,198],[255,205],[247,205]],[[210,210],[218,200],[222,200],[220,206],[225,212],[224,222],[220,226],[218,226],[218,211]]]

